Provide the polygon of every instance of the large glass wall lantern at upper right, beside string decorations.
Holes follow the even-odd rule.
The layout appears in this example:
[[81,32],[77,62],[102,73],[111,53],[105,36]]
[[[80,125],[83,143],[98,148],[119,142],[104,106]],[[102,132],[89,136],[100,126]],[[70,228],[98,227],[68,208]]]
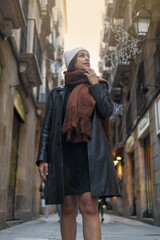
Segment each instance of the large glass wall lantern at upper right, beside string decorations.
[[142,7],[133,18],[133,24],[137,36],[146,36],[149,29],[150,21],[151,13],[145,7]]

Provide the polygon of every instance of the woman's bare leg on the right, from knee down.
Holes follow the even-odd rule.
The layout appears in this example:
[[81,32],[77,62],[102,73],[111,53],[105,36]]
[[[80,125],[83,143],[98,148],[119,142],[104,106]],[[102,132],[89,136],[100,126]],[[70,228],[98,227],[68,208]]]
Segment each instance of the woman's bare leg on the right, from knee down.
[[98,198],[90,192],[80,195],[80,209],[83,217],[85,240],[101,240],[101,225],[98,214]]

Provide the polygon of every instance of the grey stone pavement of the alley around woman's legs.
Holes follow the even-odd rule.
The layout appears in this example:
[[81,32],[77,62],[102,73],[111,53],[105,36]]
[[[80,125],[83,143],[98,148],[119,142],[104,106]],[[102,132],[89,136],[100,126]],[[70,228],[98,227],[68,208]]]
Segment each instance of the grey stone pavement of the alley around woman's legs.
[[[104,215],[102,240],[160,240],[160,228],[136,220]],[[0,231],[0,240],[60,240],[57,214],[49,216],[47,223],[41,219]],[[77,240],[83,240],[81,214],[77,217]]]

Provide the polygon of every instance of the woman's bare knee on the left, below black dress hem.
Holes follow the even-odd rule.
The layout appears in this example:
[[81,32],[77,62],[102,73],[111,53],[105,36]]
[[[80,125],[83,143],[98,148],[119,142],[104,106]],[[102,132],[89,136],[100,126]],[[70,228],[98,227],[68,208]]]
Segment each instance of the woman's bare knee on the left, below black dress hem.
[[77,199],[75,197],[65,197],[64,204],[61,205],[62,214],[72,215],[77,211]]

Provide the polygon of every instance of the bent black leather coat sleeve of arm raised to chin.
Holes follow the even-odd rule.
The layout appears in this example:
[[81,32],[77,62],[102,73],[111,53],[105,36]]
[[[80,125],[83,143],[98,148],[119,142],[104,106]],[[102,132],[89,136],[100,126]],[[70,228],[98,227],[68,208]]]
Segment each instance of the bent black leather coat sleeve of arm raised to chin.
[[109,118],[113,112],[113,103],[106,83],[96,83],[89,87],[89,92],[96,101],[96,108],[101,119]]

